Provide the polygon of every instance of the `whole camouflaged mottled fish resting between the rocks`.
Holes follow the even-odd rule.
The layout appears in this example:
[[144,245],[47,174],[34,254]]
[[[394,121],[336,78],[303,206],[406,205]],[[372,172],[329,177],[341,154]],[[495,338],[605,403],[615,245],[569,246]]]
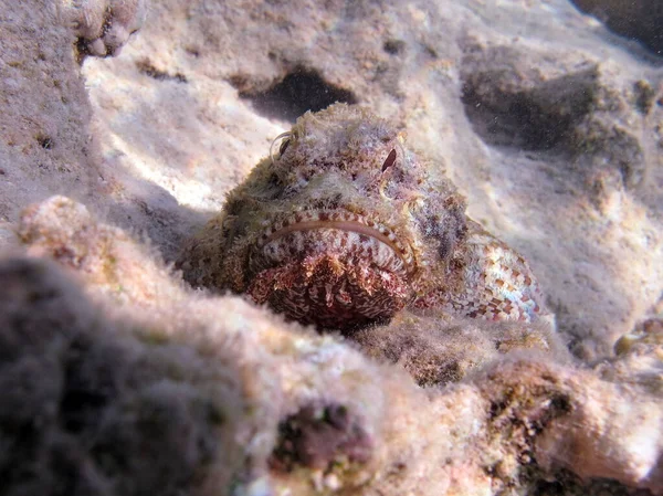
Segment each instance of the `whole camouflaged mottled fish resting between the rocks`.
[[527,262],[465,215],[465,199],[388,122],[306,113],[183,250],[193,286],[246,294],[349,331],[404,307],[490,320],[546,314]]

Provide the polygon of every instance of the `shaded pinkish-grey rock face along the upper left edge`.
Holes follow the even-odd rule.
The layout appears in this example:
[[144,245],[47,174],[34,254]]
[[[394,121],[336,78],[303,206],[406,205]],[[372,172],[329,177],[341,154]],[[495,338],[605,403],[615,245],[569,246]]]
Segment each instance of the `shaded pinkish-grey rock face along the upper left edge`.
[[3,1],[1,11],[0,220],[12,222],[55,191],[84,197],[101,172],[75,36],[56,2]]

